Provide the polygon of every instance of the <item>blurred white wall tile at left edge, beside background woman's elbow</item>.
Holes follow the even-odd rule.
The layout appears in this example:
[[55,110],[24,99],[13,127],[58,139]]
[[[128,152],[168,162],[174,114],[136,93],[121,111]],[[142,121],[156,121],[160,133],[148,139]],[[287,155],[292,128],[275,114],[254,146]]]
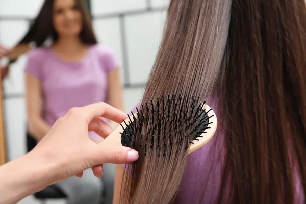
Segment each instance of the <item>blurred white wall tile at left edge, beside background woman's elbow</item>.
[[26,110],[24,98],[4,100],[4,121],[8,160],[25,154]]

